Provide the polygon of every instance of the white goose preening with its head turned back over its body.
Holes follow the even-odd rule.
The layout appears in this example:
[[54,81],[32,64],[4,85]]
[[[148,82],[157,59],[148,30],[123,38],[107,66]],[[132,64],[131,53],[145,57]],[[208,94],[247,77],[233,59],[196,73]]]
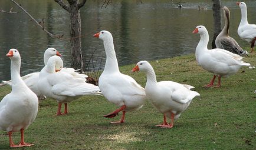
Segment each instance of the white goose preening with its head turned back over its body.
[[[59,56],[51,56],[42,68],[38,81],[38,90],[58,102],[57,115],[61,114],[61,104],[65,104],[64,115],[68,113],[67,103],[82,95],[101,95],[98,86],[87,84],[86,76],[78,74],[73,68],[64,71],[63,61]],[[68,70],[70,72],[68,72]]]

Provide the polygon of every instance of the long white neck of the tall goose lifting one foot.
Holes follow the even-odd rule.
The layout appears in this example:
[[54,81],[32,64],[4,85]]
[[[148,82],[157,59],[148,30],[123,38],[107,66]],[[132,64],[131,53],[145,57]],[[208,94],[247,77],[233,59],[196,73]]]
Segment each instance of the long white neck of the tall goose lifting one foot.
[[105,39],[103,44],[107,56],[104,72],[120,72],[116,59],[116,52],[114,51],[113,38]]

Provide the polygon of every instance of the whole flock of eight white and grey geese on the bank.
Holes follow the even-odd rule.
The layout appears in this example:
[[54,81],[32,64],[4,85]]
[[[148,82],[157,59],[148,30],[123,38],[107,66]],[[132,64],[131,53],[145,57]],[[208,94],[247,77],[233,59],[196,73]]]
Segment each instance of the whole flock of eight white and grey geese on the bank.
[[[248,24],[247,6],[244,2],[237,2],[241,8],[241,22],[238,35],[251,44],[251,52],[256,41],[256,25]],[[206,87],[221,87],[221,77],[236,74],[242,66],[250,66],[241,61],[242,56],[248,55],[229,34],[230,12],[223,8],[225,26],[216,38],[215,49],[208,49],[208,31],[205,26],[198,25],[193,34],[199,34],[201,39],[195,49],[196,62],[208,72],[214,74]],[[73,68],[64,68],[61,54],[55,48],[48,48],[44,52],[44,68],[20,76],[21,56],[17,49],[10,49],[6,54],[11,59],[11,80],[3,81],[2,85],[9,85],[11,93],[4,96],[0,102],[0,129],[8,132],[10,147],[31,146],[25,143],[24,130],[35,120],[38,112],[38,100],[52,98],[58,103],[57,116],[67,115],[67,104],[81,96],[100,95],[107,101],[117,105],[117,109],[104,115],[113,118],[119,112],[122,116],[119,121],[111,124],[122,124],[125,114],[137,111],[149,100],[155,108],[163,114],[163,123],[156,125],[161,128],[173,128],[174,120],[191,104],[192,99],[200,94],[191,85],[179,84],[173,81],[157,82],[153,66],[147,61],[139,61],[132,72],[145,72],[146,86],[141,85],[128,75],[122,74],[114,50],[113,37],[109,31],[100,31],[93,35],[103,41],[106,52],[106,64],[99,78],[99,86],[88,84],[87,75],[78,73]],[[214,86],[215,78],[218,84]],[[61,105],[64,104],[64,112]],[[170,119],[170,123],[166,121]],[[12,141],[12,132],[21,132],[21,142],[15,145]]]

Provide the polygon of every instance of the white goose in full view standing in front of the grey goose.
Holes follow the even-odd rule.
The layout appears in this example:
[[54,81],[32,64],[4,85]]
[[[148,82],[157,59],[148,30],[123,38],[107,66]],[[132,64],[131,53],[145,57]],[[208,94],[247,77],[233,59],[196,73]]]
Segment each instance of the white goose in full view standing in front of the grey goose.
[[209,35],[205,26],[196,26],[193,34],[200,34],[201,37],[195,52],[198,65],[214,74],[214,78],[208,85],[205,85],[206,87],[214,85],[216,75],[218,75],[218,85],[216,87],[219,88],[222,76],[227,77],[237,73],[241,66],[250,66],[250,64],[241,61],[242,56],[233,54],[225,49],[208,49]]

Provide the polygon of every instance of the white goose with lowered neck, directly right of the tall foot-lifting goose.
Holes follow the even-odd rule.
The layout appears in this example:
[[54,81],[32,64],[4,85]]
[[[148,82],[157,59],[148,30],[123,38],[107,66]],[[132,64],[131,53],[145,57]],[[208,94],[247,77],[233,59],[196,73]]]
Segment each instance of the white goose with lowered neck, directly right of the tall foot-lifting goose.
[[[188,108],[192,99],[199,96],[198,92],[191,91],[191,85],[183,85],[173,81],[156,81],[156,74],[147,61],[140,61],[132,71],[146,72],[146,95],[150,102],[163,114],[163,124],[156,125],[162,128],[172,128],[174,119]],[[166,122],[166,116],[172,122]]]

